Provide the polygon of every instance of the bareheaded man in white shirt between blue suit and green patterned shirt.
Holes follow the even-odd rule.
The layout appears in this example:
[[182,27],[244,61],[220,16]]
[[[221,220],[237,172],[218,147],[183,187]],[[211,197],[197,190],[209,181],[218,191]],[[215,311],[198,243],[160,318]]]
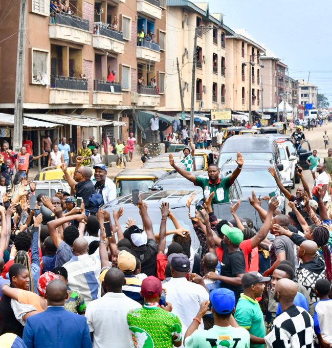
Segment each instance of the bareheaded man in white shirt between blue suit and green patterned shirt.
[[122,271],[118,268],[109,269],[102,283],[106,294],[86,307],[85,317],[90,333],[93,333],[94,348],[134,347],[127,313],[142,306],[122,293],[125,283]]

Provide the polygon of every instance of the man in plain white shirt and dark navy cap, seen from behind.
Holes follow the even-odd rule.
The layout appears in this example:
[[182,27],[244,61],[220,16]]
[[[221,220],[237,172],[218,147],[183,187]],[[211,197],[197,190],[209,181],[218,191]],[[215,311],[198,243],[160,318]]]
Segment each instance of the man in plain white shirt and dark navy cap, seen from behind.
[[[192,274],[191,281],[187,280],[190,270],[188,256],[172,254],[169,257],[171,258],[172,278],[163,284],[163,288],[166,292],[166,301],[172,303],[172,313],[180,318],[184,335],[192,323],[192,319],[200,310],[201,304],[209,299],[209,292],[201,276]],[[203,322],[199,329],[204,330]]]

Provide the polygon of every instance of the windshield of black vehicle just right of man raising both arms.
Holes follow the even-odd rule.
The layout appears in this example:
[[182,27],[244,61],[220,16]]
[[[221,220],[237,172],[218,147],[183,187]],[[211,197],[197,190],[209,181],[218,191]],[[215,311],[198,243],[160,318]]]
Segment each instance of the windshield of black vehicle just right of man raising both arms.
[[[253,180],[254,178],[254,180]],[[237,177],[240,187],[274,187],[276,182],[268,169],[242,169]]]

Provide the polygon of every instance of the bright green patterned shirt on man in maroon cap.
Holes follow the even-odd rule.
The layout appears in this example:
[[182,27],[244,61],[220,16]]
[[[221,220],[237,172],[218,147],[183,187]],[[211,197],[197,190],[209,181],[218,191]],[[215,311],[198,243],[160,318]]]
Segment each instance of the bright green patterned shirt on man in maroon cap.
[[127,321],[135,347],[173,348],[172,338],[176,342],[182,339],[180,319],[158,303],[144,303],[142,308],[132,309]]

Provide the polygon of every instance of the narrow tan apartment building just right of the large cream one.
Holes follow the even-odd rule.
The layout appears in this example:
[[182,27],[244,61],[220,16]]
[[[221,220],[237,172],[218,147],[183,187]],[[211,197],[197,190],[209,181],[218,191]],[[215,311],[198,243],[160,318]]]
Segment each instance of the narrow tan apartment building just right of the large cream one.
[[226,36],[226,107],[248,112],[260,108],[260,56],[264,48],[244,29]]

